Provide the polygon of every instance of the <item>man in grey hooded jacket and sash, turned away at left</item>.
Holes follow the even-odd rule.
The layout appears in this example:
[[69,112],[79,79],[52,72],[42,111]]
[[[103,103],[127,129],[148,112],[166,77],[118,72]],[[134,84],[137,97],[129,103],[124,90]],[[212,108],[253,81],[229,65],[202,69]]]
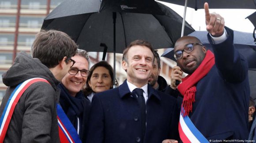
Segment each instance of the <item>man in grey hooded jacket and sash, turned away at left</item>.
[[[56,113],[60,89],[57,85],[74,64],[71,57],[77,47],[64,32],[42,30],[31,48],[33,58],[25,52],[17,55],[14,64],[3,74],[8,89],[0,107],[1,143],[60,142]],[[33,82],[35,80],[38,81]],[[4,132],[4,129],[7,130]]]

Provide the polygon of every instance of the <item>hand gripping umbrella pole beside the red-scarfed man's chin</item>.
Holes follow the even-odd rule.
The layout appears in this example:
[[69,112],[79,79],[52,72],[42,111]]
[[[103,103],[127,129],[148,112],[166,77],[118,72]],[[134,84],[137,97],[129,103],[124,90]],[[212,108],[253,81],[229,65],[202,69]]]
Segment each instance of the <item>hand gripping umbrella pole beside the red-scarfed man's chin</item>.
[[170,85],[170,87],[172,88],[172,89],[177,89],[177,85],[175,84],[176,83],[176,80],[178,80],[178,81],[182,81],[182,74],[183,74],[183,72],[181,71],[181,68],[180,67],[178,67],[178,66],[175,66],[175,67],[173,67],[173,69],[172,69],[172,72],[171,72],[171,85]]

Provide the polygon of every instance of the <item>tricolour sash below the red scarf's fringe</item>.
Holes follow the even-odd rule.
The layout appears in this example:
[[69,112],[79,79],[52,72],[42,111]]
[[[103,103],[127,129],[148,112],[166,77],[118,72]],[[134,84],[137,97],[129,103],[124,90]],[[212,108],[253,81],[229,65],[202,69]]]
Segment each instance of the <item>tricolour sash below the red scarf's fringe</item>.
[[[184,110],[183,107],[181,107],[182,110]],[[196,129],[190,118],[188,116],[183,117],[182,114],[180,114],[179,133],[183,143],[209,143],[203,134]]]

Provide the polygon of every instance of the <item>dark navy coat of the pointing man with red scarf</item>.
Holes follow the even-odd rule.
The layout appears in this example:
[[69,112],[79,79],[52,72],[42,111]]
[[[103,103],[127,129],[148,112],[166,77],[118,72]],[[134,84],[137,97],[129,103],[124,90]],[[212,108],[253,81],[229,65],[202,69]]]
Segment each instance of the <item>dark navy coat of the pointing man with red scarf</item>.
[[[248,64],[228,38],[213,45],[215,65],[196,84],[196,97],[190,119],[211,141],[248,139],[248,101],[250,96]],[[212,43],[208,35],[209,41]]]

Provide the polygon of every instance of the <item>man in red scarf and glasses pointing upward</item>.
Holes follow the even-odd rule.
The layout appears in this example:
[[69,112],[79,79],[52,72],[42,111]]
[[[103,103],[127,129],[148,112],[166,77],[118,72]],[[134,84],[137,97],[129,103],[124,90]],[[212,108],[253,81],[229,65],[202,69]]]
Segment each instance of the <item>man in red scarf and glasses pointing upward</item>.
[[[204,8],[207,37],[214,52],[207,50],[196,37],[178,39],[174,46],[177,67],[171,74],[171,88],[184,97],[181,116],[189,117],[209,142],[245,140],[250,95],[248,64],[234,49],[233,31],[224,27],[224,18],[210,14],[207,3]],[[184,79],[182,72],[188,74]],[[181,84],[177,86],[176,80]],[[182,141],[191,142],[190,137],[186,139]]]

